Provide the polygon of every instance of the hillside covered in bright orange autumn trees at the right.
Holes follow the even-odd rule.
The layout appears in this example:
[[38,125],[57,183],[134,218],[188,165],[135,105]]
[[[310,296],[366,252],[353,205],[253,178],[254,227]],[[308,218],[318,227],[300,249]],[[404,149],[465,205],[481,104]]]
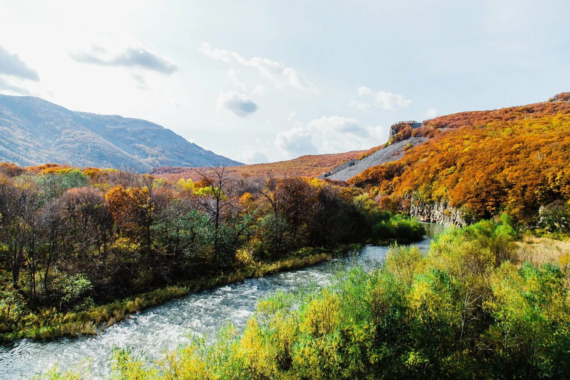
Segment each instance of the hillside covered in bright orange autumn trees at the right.
[[507,212],[527,224],[538,222],[541,207],[567,212],[568,93],[522,107],[441,116],[398,135],[429,140],[349,180],[376,194],[385,209],[442,203],[466,222]]

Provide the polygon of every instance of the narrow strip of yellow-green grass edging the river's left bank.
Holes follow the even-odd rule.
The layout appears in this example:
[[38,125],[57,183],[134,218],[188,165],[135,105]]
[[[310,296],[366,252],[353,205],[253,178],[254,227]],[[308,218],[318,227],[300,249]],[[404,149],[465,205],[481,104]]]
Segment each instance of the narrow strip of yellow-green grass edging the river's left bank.
[[[284,270],[315,265],[330,260],[331,256],[335,254],[357,248],[359,248],[358,244],[343,245],[336,249],[305,248],[299,252],[291,253],[289,257],[283,260],[253,263],[230,273],[180,282],[177,285],[136,294],[81,312],[61,313],[54,308],[42,310],[40,313],[30,313],[21,319],[18,329],[1,334],[0,342],[10,342],[21,338],[40,339],[97,334],[103,332],[106,327],[128,318],[130,314],[161,305],[173,298],[184,297],[189,293],[200,292],[221,285],[233,284],[246,278],[262,277]],[[299,257],[299,253],[303,256]]]

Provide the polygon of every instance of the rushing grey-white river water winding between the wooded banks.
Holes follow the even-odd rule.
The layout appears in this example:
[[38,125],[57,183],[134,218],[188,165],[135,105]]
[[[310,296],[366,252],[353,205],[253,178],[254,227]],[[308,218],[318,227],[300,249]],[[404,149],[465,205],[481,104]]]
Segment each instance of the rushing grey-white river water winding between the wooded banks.
[[[425,252],[431,237],[443,226],[424,223],[426,235],[417,243]],[[300,284],[327,283],[337,265],[360,264],[384,260],[388,246],[364,246],[355,258],[337,258],[308,268],[251,278],[232,285],[189,294],[165,304],[133,314],[131,318],[105,329],[99,335],[34,341],[21,339],[0,346],[0,378],[26,378],[43,373],[54,364],[68,369],[89,358],[88,367],[95,378],[109,374],[114,346],[132,347],[135,353],[157,359],[166,349],[174,349],[188,340],[189,334],[213,337],[227,321],[242,329],[253,314],[260,298],[275,290],[295,290]]]

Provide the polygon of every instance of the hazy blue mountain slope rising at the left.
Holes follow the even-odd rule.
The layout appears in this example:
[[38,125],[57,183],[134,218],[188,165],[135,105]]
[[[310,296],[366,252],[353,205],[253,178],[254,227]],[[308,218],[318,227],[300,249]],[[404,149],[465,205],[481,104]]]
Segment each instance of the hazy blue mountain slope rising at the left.
[[0,161],[138,172],[165,165],[242,165],[146,120],[75,112],[32,96],[8,95],[0,95]]

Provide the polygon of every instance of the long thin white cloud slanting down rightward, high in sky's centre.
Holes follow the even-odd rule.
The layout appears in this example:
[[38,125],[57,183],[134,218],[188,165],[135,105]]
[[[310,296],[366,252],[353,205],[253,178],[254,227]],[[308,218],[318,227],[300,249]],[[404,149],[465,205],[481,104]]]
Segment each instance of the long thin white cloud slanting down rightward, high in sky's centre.
[[299,88],[300,90],[314,92],[315,94],[319,93],[319,89],[314,84],[309,83],[304,75],[275,60],[257,56],[248,60],[235,51],[213,48],[209,43],[202,43],[198,51],[203,55],[225,63],[237,63],[245,67],[255,68],[259,74],[270,79],[278,88],[284,84],[289,84],[289,86]]

